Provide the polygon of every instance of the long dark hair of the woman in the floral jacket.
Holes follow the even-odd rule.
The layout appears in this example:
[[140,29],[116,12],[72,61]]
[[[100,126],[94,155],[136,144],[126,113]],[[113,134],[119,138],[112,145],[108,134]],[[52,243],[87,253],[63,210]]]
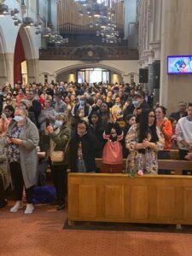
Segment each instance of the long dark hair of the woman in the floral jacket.
[[[143,143],[143,140],[147,137],[148,132],[151,134],[151,143],[156,143],[159,141],[159,137],[157,136],[157,131],[156,131],[156,118],[155,118],[155,113],[154,113],[154,124],[151,126],[148,126],[148,114],[150,112],[154,113],[154,110],[152,109],[146,109],[143,110],[143,112],[140,115],[139,118],[139,141],[138,143]],[[139,153],[145,152],[144,149],[139,149]]]

